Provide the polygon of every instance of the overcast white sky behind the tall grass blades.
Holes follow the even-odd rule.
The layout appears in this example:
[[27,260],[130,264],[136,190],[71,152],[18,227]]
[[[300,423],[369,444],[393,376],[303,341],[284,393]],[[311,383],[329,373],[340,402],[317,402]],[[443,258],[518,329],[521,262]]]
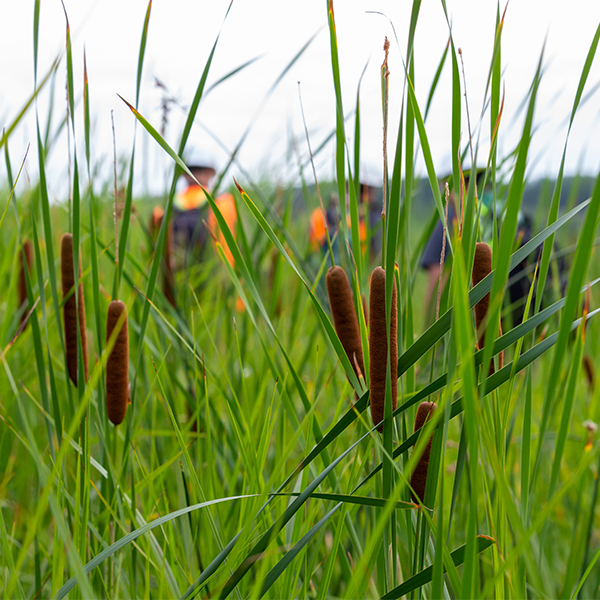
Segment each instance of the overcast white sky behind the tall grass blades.
[[[140,111],[158,129],[161,123],[160,79],[180,103],[192,100],[210,48],[223,23],[228,1],[154,0],[144,64]],[[368,62],[361,87],[363,175],[379,184],[382,163],[382,117],[379,70],[383,41],[392,42],[390,53],[390,154],[399,122],[402,100],[402,58],[406,50],[411,2],[409,0],[337,0],[335,17],[340,48],[344,111],[353,110],[356,90]],[[65,0],[73,36],[75,94],[79,99],[76,114],[76,142],[80,163],[83,146],[83,50],[87,54],[92,106],[92,162],[98,181],[112,186],[111,110],[114,110],[118,153],[128,156],[133,141],[134,117],[117,97],[135,100],[137,58],[146,0]],[[462,48],[468,101],[474,128],[480,121],[485,81],[491,61],[496,3],[493,0],[447,0],[454,41]],[[302,125],[298,82],[301,83],[304,111],[315,149],[335,126],[335,96],[331,75],[326,0],[235,0],[225,21],[217,46],[208,85],[246,60],[262,58],[231,78],[201,103],[198,125],[192,131],[190,146],[198,158],[209,158],[216,167],[227,162],[227,153],[203,129],[210,131],[228,149],[233,149],[253,121],[265,94],[285,65],[315,32],[309,49],[293,66],[269,98],[254,122],[239,154],[239,161],[253,177],[267,175],[289,181],[298,173],[292,148],[295,139],[303,157],[306,140]],[[504,4],[501,5],[501,9]],[[387,17],[369,14],[379,11]],[[0,0],[0,126],[12,121],[33,91],[33,1]],[[393,23],[399,46],[394,40]],[[512,0],[506,13],[502,43],[503,83],[506,89],[504,118],[500,130],[500,152],[507,153],[520,135],[523,113],[516,117],[535,72],[540,52],[546,43],[546,73],[539,94],[536,124],[538,130],[531,149],[530,175],[554,176],[562,154],[566,120],[570,114],[577,82],[586,54],[600,22],[597,0]],[[424,109],[429,86],[448,39],[448,26],[438,0],[423,0],[416,35],[416,89]],[[40,67],[45,74],[65,43],[65,18],[58,0],[42,2],[40,22]],[[600,63],[600,57],[596,62]],[[444,173],[450,166],[451,64],[444,74],[427,121],[427,132],[436,169]],[[66,110],[65,62],[59,67],[55,89],[56,128]],[[600,81],[600,66],[592,67],[586,90]],[[39,111],[45,123],[50,88],[39,98]],[[597,135],[600,95],[594,94],[578,114],[571,134],[567,171],[595,174],[600,155]],[[520,116],[519,116],[520,115]],[[166,131],[167,141],[176,147],[184,115],[173,107]],[[485,156],[489,141],[489,116],[484,117],[480,156]],[[350,147],[353,147],[354,120],[347,122]],[[170,159],[138,127],[137,191],[161,193],[171,173]],[[463,112],[463,142],[468,139]],[[10,139],[14,167],[32,143],[27,173],[37,179],[35,117],[31,111]],[[333,143],[317,159],[320,177],[333,173]],[[481,162],[481,161],[480,161]],[[0,178],[5,175],[1,161]],[[62,135],[48,159],[51,196],[66,194],[68,151]],[[422,162],[418,170],[423,172]],[[310,170],[305,171],[311,179]],[[243,174],[236,167],[230,174]],[[227,179],[227,181],[230,181]],[[123,182],[120,182],[123,183]]]

